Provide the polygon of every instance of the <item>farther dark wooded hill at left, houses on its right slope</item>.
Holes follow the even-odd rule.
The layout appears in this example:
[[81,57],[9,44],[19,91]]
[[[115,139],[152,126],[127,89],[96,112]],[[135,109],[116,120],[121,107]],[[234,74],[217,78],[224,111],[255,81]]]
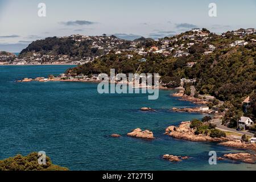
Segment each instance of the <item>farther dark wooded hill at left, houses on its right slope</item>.
[[27,53],[42,53],[52,56],[67,55],[71,57],[92,57],[104,55],[109,49],[126,47],[126,40],[115,36],[82,36],[73,35],[63,38],[46,38],[32,42],[20,52],[20,57]]

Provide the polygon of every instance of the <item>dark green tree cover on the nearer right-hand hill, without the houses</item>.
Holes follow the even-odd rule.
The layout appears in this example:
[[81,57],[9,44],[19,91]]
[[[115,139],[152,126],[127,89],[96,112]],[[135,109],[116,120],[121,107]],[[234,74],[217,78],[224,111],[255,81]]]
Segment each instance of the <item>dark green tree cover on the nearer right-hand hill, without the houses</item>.
[[[179,35],[177,38],[184,35]],[[253,38],[255,39],[256,36],[246,36],[244,40]],[[160,53],[140,56],[133,53],[133,57],[128,59],[126,57],[128,52],[120,55],[110,52],[92,63],[69,69],[67,73],[92,75],[109,73],[111,68],[115,68],[118,73],[135,73],[138,69],[138,73],[159,73],[163,82],[176,81],[175,86],[179,84],[180,78],[197,78],[195,86],[199,94],[210,94],[236,108],[242,108],[243,99],[249,95],[251,98],[255,97],[256,44],[249,42],[246,46],[229,46],[239,39],[229,33],[225,38],[212,34],[207,42],[188,48],[190,55],[182,57],[164,56]],[[210,44],[216,49],[213,53],[205,55],[204,52]],[[147,59],[145,63],[139,61],[142,57]],[[188,67],[189,62],[196,64]]]

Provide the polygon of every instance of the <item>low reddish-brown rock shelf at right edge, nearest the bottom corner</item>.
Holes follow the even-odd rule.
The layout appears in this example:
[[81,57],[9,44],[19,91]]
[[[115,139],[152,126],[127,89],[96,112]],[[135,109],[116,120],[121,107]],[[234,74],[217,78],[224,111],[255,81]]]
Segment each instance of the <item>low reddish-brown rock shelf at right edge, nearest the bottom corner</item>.
[[246,154],[246,153],[238,153],[238,154],[225,154],[225,158],[231,159],[231,160],[238,160],[245,163],[256,163],[256,154]]

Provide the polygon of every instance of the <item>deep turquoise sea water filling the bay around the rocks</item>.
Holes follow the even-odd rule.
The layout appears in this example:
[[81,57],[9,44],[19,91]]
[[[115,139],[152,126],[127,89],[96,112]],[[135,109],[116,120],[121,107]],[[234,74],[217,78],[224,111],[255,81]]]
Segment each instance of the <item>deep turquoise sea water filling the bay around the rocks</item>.
[[[171,107],[194,106],[160,90],[158,100],[146,94],[97,93],[97,84],[79,82],[27,82],[24,77],[59,74],[71,66],[0,67],[0,159],[32,151],[46,151],[53,163],[71,170],[255,170],[253,164],[208,163],[209,151],[218,156],[239,152],[216,143],[188,142],[163,135],[166,127],[202,118],[201,114],[174,113]],[[141,107],[154,113],[143,113]],[[155,140],[126,137],[141,127]],[[111,138],[113,133],[121,138]],[[191,156],[171,163],[164,154]]]

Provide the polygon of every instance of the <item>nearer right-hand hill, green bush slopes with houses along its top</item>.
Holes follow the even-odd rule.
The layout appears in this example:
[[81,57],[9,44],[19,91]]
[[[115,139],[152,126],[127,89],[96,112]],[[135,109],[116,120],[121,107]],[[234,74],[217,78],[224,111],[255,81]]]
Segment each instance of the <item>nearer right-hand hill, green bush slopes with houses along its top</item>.
[[[143,46],[146,55],[109,53],[67,72],[91,75],[115,68],[118,72],[135,73],[139,68],[138,73],[159,73],[162,80],[174,86],[180,84],[180,78],[196,78],[199,94],[211,94],[241,107],[242,100],[256,88],[255,33],[256,30],[238,30],[216,35],[206,29],[188,31],[159,42],[150,41]],[[145,42],[144,38],[135,41],[140,40]],[[150,51],[151,46],[155,52]],[[142,57],[147,61],[141,63]]]

